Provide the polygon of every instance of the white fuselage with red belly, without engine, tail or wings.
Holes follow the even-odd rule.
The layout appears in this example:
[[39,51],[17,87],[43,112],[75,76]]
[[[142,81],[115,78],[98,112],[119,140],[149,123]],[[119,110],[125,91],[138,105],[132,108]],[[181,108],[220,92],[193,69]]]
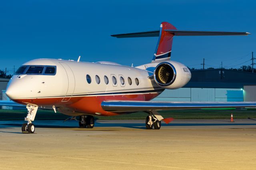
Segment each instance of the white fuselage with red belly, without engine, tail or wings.
[[[154,79],[148,78],[152,73],[146,69],[115,63],[35,59],[22,66],[44,66],[44,70],[54,66],[56,73],[15,74],[6,91],[10,99],[24,105],[55,106],[67,115],[116,115],[102,110],[100,103],[106,100],[149,101],[164,90]],[[98,83],[96,76],[100,79]],[[108,79],[107,84],[104,76]]]

